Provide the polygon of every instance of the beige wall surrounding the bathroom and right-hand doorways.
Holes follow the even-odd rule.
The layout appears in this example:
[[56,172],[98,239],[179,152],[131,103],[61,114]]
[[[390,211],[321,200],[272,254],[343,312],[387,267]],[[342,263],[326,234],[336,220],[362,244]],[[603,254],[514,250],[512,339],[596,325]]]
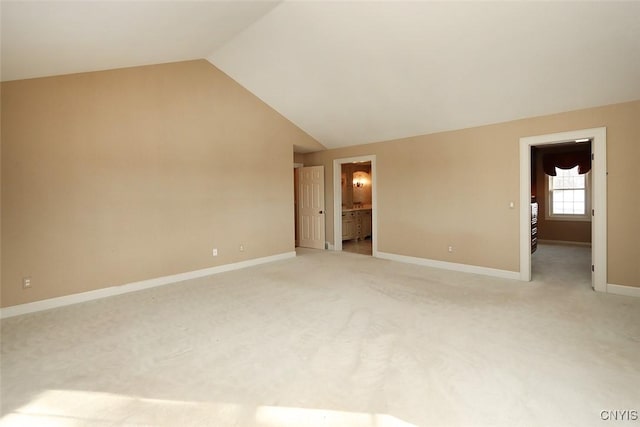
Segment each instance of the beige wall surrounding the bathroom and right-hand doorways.
[[519,271],[519,139],[606,126],[608,282],[640,286],[639,117],[634,101],[311,153],[305,164],[325,166],[329,241],[333,159],[376,155],[379,251]]

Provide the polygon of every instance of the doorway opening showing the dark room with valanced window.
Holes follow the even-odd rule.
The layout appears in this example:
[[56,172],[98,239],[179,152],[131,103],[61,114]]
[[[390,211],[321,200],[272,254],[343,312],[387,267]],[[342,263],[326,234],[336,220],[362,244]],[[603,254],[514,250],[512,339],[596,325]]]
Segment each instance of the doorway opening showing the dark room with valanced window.
[[533,280],[591,281],[591,139],[531,147]]

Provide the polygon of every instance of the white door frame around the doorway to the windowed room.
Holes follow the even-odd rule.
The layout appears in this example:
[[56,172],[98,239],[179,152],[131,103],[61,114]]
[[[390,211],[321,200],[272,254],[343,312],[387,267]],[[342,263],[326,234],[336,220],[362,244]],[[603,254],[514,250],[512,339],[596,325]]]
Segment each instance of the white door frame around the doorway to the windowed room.
[[531,281],[531,147],[590,138],[593,209],[591,257],[593,288],[607,292],[607,128],[583,129],[520,138],[520,279]]

